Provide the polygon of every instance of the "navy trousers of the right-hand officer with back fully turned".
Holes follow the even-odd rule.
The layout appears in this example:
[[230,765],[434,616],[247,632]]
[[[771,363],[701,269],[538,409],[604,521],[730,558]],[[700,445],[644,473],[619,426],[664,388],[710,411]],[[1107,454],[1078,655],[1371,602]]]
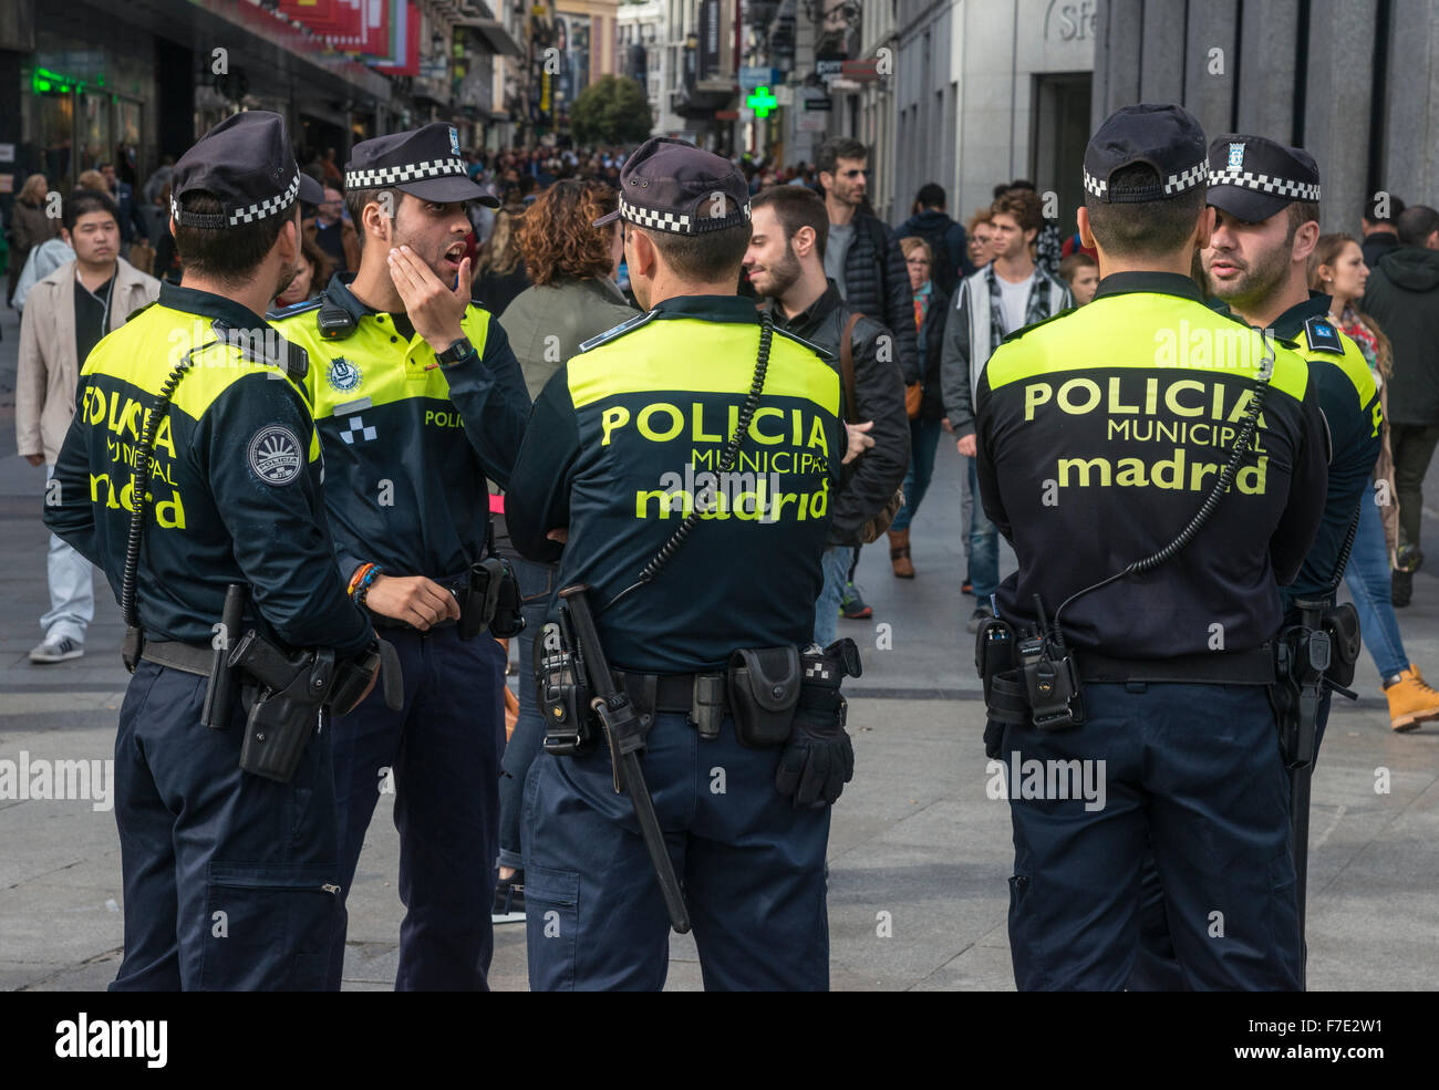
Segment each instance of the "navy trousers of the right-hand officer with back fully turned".
[[1105,804],[1010,798],[1009,936],[1020,991],[1121,989],[1153,850],[1193,989],[1299,982],[1288,784],[1262,686],[1086,684],[1086,722],[1009,728],[1003,759],[1105,761]]

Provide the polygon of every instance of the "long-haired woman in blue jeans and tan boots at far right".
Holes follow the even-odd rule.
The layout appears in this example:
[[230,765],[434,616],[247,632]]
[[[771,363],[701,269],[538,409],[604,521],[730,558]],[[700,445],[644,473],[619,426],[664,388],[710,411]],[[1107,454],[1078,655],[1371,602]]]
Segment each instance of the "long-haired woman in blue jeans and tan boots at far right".
[[1394,731],[1413,731],[1423,722],[1439,719],[1439,692],[1425,682],[1419,667],[1409,660],[1399,633],[1390,582],[1390,564],[1399,545],[1399,503],[1394,499],[1394,456],[1389,441],[1389,378],[1394,352],[1384,331],[1356,308],[1368,282],[1368,266],[1360,243],[1350,234],[1324,234],[1309,260],[1309,288],[1330,296],[1330,321],[1348,334],[1364,355],[1379,385],[1381,450],[1374,466],[1373,502],[1360,506],[1358,529],[1344,581],[1358,610],[1364,646],[1374,660],[1389,702],[1389,725]]

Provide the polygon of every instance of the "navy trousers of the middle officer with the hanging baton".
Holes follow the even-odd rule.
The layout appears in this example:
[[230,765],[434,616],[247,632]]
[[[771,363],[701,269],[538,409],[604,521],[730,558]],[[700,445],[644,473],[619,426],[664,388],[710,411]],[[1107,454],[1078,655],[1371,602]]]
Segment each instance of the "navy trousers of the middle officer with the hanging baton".
[[[747,749],[725,719],[701,739],[655,716],[640,759],[689,902],[709,991],[829,988],[829,807],[774,789],[780,748]],[[669,968],[669,916],[606,745],[535,758],[524,801],[525,928],[534,991],[650,989]]]

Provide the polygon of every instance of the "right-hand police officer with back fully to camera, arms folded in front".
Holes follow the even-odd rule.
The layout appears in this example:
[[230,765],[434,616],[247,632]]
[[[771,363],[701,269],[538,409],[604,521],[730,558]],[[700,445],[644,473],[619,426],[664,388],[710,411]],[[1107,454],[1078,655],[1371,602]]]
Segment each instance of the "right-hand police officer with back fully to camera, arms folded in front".
[[1213,229],[1189,112],[1117,111],[1084,170],[1094,302],[1010,338],[977,395],[980,493],[1019,558],[997,595],[1017,656],[986,684],[1014,979],[1122,988],[1151,844],[1187,982],[1295,988],[1266,643],[1322,513],[1315,383],[1189,276]]

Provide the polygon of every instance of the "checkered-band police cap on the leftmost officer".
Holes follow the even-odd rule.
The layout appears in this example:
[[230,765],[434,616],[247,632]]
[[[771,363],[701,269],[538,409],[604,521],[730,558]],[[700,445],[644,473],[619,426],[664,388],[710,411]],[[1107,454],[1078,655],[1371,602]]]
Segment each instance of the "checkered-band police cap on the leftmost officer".
[[[181,197],[187,193],[207,193],[222,210],[186,211]],[[296,197],[318,204],[325,193],[295,165],[285,119],[250,109],[227,116],[180,157],[170,181],[170,214],[184,227],[219,230],[278,216]]]

